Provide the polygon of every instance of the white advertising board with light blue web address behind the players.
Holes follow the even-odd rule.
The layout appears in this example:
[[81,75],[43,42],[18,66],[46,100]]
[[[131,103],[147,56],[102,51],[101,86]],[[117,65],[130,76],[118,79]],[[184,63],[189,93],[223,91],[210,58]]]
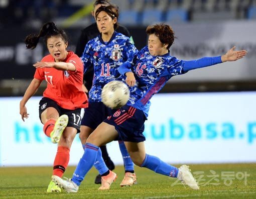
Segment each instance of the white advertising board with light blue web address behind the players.
[[[41,97],[19,114],[21,97],[0,98],[0,166],[52,165],[57,145],[43,132]],[[256,92],[166,93],[152,99],[145,125],[146,151],[169,163],[255,162]],[[123,164],[118,143],[107,144],[110,157]],[[70,165],[83,154],[79,137]]]

